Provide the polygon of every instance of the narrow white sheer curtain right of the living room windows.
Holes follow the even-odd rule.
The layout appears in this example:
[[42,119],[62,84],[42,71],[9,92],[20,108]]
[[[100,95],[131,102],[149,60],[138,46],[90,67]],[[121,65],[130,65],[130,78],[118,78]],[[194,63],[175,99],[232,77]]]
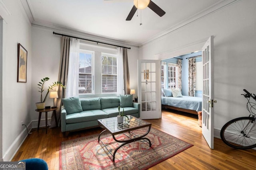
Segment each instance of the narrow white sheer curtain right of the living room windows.
[[124,94],[123,49],[117,47],[117,94]]

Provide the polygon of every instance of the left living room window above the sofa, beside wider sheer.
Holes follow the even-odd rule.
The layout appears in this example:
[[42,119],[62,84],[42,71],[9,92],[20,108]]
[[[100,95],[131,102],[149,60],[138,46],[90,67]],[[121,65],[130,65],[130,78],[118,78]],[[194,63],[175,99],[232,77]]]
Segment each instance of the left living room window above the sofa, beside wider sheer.
[[82,50],[79,53],[79,94],[93,94],[93,51]]

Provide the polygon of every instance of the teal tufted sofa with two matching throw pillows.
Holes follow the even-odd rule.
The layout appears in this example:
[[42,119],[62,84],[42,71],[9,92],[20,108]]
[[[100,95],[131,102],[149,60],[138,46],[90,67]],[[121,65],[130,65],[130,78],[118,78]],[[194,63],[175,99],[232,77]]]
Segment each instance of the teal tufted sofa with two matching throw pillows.
[[[140,104],[132,102],[132,96],[101,98],[68,98],[62,99],[61,131],[76,131],[98,127],[98,119],[115,117],[124,108],[125,115],[140,117]],[[66,135],[66,133],[65,133]]]

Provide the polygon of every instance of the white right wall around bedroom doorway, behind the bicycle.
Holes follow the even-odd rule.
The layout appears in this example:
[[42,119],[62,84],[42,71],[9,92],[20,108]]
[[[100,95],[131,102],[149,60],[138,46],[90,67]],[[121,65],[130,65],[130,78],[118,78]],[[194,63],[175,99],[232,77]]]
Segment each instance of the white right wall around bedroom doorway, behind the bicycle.
[[255,8],[254,0],[238,1],[139,49],[140,59],[166,59],[200,50],[214,35],[215,129],[248,115],[244,88],[256,93]]

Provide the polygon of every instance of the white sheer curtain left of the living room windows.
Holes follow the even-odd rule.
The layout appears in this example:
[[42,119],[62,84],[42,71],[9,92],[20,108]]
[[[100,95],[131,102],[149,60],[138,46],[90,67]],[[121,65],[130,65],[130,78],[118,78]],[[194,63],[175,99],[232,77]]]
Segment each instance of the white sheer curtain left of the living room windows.
[[79,83],[79,39],[70,39],[70,52],[68,61],[68,78],[65,98],[78,96]]

